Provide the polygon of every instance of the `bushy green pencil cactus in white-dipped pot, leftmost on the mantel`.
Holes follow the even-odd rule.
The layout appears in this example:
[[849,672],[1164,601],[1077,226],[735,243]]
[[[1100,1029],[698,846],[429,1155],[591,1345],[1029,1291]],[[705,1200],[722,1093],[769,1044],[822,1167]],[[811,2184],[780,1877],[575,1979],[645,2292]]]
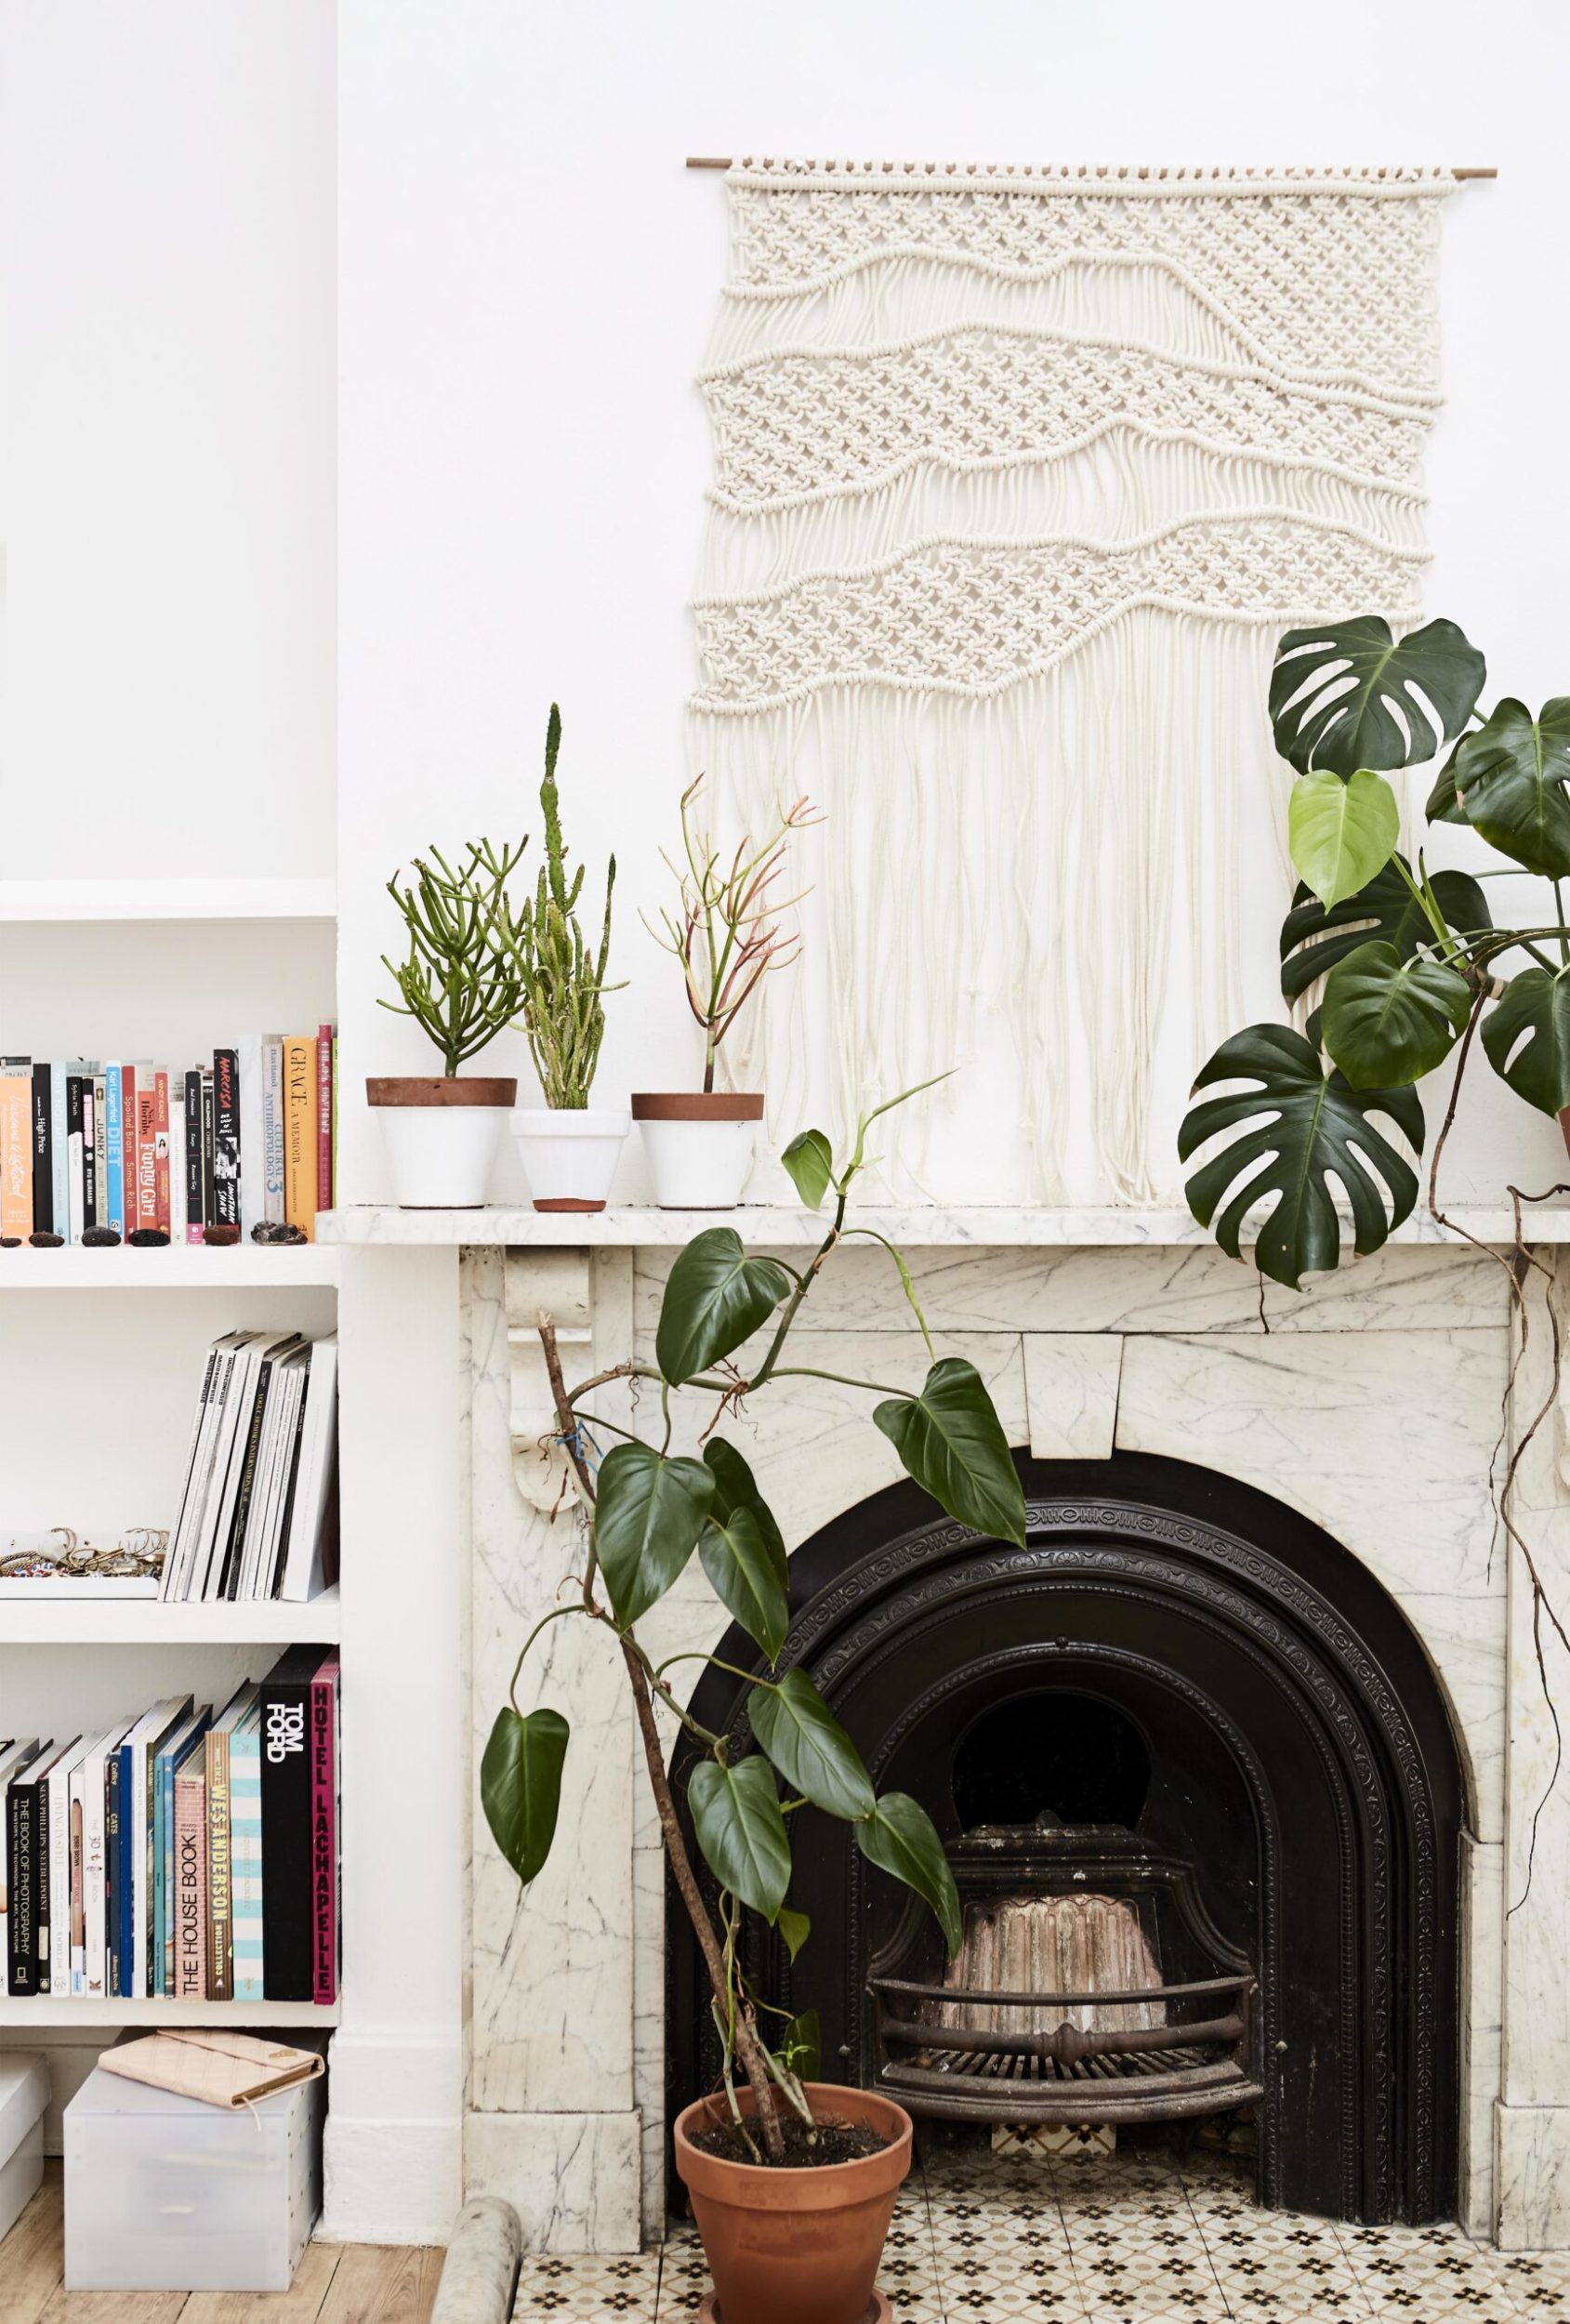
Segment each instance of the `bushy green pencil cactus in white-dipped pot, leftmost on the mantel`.
[[485,1202],[502,1116],[518,1099],[506,1076],[460,1074],[518,1016],[523,978],[497,951],[495,925],[506,881],[527,839],[499,853],[471,839],[455,867],[439,848],[416,858],[413,878],[388,895],[409,930],[409,957],[381,955],[399,999],[381,1006],[411,1016],[441,1055],[441,1074],[383,1074],[365,1083],[392,1164],[395,1202],[406,1211],[469,1211]]

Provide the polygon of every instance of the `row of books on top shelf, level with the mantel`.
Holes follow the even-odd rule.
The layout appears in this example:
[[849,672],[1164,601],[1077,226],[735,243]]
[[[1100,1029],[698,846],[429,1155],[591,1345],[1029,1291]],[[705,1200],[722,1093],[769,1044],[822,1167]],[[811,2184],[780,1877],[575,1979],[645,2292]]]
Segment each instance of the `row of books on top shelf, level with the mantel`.
[[0,1057],[0,1241],[314,1241],[334,1106],[332,1025],[249,1034],[188,1071]]

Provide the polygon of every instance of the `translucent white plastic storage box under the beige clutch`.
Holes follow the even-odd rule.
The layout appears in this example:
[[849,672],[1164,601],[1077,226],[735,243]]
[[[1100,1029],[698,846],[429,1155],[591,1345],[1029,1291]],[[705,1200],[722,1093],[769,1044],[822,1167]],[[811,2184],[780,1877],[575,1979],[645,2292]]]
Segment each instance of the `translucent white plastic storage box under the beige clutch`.
[[325,2089],[230,2113],[95,2068],[65,2108],[65,2289],[288,2291],[321,2210]]

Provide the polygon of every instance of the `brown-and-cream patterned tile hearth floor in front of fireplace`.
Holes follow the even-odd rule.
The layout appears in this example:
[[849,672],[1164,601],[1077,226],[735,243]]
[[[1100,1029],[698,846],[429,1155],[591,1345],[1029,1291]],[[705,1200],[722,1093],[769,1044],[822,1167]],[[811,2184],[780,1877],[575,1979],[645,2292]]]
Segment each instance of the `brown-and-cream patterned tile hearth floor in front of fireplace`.
[[[1570,2252],[1510,2257],[1459,2226],[1261,2210],[1233,2164],[1166,2152],[929,2157],[899,2199],[878,2282],[896,2324],[1570,2319]],[[678,2229],[636,2259],[527,2259],[513,2317],[690,2324],[706,2289],[697,2233]]]

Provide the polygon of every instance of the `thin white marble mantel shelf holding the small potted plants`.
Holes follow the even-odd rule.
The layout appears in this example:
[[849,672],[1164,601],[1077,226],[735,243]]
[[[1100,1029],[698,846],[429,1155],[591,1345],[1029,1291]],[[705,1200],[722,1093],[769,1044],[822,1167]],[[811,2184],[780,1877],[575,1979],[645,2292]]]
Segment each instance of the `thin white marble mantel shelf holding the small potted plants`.
[[[536,1250],[583,1250],[597,1246],[655,1248],[662,1243],[685,1243],[704,1227],[734,1225],[750,1243],[820,1243],[827,1213],[801,1211],[787,1204],[741,1204],[736,1211],[655,1211],[611,1208],[595,1213],[546,1213],[523,1208],[483,1211],[397,1211],[383,1204],[360,1204],[341,1211],[323,1211],[316,1220],[321,1243],[481,1243],[481,1246],[534,1246]],[[1510,1243],[1512,1218],[1505,1204],[1456,1204],[1449,1211],[1468,1234],[1484,1243]],[[1528,1213],[1528,1241],[1570,1243],[1570,1206],[1544,1204]],[[1029,1211],[999,1204],[996,1208],[957,1208],[945,1204],[876,1206],[859,1204],[852,1225],[873,1227],[894,1243],[915,1250],[941,1246],[973,1246],[985,1250],[1006,1248],[1064,1248],[1064,1246],[1117,1246],[1147,1243],[1171,1248],[1182,1243],[1208,1243],[1210,1234],[1189,1211],[1180,1208],[1057,1208]],[[1396,1243],[1456,1243],[1459,1236],[1440,1227],[1426,1211],[1417,1211],[1396,1227]]]

